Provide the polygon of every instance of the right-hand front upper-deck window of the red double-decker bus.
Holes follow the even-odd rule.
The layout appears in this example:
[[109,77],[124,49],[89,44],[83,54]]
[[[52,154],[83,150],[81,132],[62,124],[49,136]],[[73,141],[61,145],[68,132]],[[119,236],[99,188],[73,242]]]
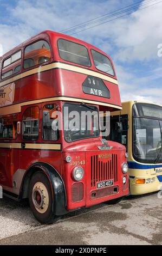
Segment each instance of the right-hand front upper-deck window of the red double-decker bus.
[[114,76],[115,74],[114,74],[113,66],[110,60],[108,59],[108,57],[94,50],[91,50],[91,52],[92,52],[92,57],[93,57],[94,65],[96,69]]

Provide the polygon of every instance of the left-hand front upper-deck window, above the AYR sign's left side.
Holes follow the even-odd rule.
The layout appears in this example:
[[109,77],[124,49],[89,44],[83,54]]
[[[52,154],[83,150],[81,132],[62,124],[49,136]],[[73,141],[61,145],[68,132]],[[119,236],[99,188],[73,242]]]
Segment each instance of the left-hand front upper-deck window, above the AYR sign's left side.
[[82,66],[91,65],[88,50],[85,46],[59,39],[58,47],[60,57],[67,60],[67,62],[73,62]]

